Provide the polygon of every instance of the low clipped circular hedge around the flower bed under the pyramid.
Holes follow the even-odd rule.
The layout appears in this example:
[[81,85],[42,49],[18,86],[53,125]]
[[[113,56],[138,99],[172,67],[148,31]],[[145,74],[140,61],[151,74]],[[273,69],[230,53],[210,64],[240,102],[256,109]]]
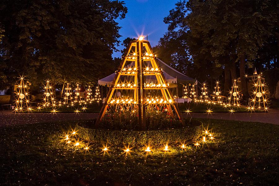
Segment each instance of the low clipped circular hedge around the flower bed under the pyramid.
[[[87,122],[88,123],[88,122]],[[176,129],[149,131],[94,129],[79,123],[79,136],[87,141],[109,144],[166,144],[197,139],[202,134],[202,123],[192,120],[187,126]]]

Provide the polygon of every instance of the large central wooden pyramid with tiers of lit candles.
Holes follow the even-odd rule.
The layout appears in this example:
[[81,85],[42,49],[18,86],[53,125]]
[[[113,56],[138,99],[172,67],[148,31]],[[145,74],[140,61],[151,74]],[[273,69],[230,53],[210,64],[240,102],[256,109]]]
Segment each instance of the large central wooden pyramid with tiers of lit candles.
[[[117,90],[123,92],[131,91],[130,95],[133,95],[133,99],[131,97],[126,100],[119,100],[119,97],[115,98]],[[155,99],[148,99],[149,97],[146,96],[145,91],[150,90],[161,92],[162,97],[159,99],[156,96]],[[146,127],[145,110],[148,104],[164,104],[170,116],[174,117],[171,108],[173,106],[180,122],[184,125],[183,117],[177,104],[173,101],[171,91],[162,69],[158,65],[157,58],[152,51],[150,43],[144,40],[143,36],[129,43],[95,126],[98,126],[103,119],[108,105],[120,103],[138,105],[139,127],[142,129]]]

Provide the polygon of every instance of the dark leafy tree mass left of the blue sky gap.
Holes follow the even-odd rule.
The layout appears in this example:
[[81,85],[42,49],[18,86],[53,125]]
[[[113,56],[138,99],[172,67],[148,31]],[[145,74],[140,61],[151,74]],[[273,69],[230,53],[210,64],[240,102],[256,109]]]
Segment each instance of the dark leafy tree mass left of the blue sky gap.
[[33,85],[96,81],[113,66],[127,8],[118,0],[4,0],[0,63],[9,83],[19,74]]

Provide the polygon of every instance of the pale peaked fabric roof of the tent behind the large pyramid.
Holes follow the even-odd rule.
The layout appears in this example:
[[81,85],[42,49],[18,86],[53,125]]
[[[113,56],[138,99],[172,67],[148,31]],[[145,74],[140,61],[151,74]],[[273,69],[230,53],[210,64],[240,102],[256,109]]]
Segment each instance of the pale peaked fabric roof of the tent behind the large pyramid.
[[[162,69],[163,71],[163,74],[166,78],[166,81],[169,83],[169,84],[174,84],[174,83],[177,83],[177,82],[194,82],[196,81],[195,79],[193,78],[189,78],[188,76],[185,76],[183,73],[180,73],[178,72],[177,70],[171,68],[169,65],[167,65],[166,63],[164,63],[162,60],[160,60],[159,58],[157,58],[157,61],[158,61],[158,64],[159,64],[159,67]],[[130,64],[130,65],[127,65],[128,66],[133,66],[134,64]],[[115,73],[113,74],[110,74],[109,76],[103,78],[103,79],[100,79],[98,81],[98,84],[100,85],[107,85],[107,86],[110,86],[113,82],[113,79],[115,77]],[[156,77],[155,76],[146,76],[146,81],[148,82],[155,82],[156,81]]]

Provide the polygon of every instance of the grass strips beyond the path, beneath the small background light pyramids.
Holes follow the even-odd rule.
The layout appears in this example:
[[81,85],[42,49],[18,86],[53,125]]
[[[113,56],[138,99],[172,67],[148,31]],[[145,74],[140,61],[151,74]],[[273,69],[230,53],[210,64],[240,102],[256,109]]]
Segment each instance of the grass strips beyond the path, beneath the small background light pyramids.
[[[233,107],[233,108],[224,108],[221,105],[208,105],[204,103],[189,103],[189,104],[179,104],[179,109],[181,112],[187,112],[189,109],[193,113],[206,113],[208,109],[210,109],[214,113],[220,113],[220,112],[225,112],[228,113],[230,112],[231,109],[234,110],[234,112],[248,112],[246,107]],[[97,104],[97,103],[92,103],[92,104],[87,104],[86,110],[83,110],[82,107],[84,105],[74,105],[74,106],[61,106],[61,107],[56,107],[56,113],[74,113],[76,110],[78,110],[80,113],[99,113],[102,107],[102,104]],[[53,111],[53,108],[48,107],[48,108],[42,108],[38,110],[36,107],[34,107],[33,113],[51,113]],[[25,111],[28,113],[28,111]],[[258,112],[258,110],[255,110],[254,112]]]

